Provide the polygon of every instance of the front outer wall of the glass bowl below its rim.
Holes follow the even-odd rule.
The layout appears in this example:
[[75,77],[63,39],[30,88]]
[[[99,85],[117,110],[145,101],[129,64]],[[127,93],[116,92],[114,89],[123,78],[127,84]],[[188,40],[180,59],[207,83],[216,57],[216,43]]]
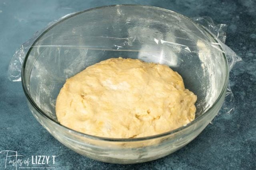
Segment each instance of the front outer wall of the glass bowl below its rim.
[[[224,101],[224,97],[222,96],[220,102]],[[28,102],[28,106],[34,117],[52,136],[75,152],[102,162],[134,164],[162,158],[187,145],[212,121],[222,104],[215,105],[209,114],[191,125],[190,128],[170,135],[147,140],[138,139],[138,141],[109,141],[83,137],[73,133],[73,131],[67,131],[62,125],[50,121],[40,114],[30,102]]]

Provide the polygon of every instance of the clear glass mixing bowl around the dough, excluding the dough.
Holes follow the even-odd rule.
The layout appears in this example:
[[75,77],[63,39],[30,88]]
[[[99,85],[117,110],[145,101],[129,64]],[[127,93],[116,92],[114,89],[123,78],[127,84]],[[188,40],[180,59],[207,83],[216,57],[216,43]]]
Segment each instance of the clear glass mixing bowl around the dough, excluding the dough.
[[[60,125],[55,103],[66,78],[112,57],[166,64],[177,71],[198,97],[196,119],[134,139],[96,137]],[[212,33],[170,10],[141,5],[104,6],[62,18],[34,41],[22,66],[28,106],[43,127],[75,152],[118,164],[155,160],[192,141],[217,115],[227,82],[227,59]]]

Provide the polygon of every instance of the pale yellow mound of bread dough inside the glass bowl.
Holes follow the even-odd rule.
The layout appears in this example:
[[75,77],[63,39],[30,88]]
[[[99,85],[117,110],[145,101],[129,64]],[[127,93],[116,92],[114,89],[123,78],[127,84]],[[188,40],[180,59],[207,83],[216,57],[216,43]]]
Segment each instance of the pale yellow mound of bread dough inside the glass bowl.
[[60,124],[110,138],[157,135],[195,118],[196,96],[166,65],[112,58],[68,78],[56,101]]

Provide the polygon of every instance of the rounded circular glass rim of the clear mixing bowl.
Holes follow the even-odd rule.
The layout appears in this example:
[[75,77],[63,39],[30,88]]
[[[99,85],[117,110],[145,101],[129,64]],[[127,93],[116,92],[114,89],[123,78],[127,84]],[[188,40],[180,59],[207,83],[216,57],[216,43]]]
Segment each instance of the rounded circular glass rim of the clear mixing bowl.
[[[38,36],[36,38],[36,40],[33,42],[33,44],[29,47],[29,50],[28,52],[26,53],[26,57],[24,59],[24,62],[22,64],[22,74],[21,74],[21,80],[22,80],[22,88],[24,90],[24,93],[28,99],[28,101],[30,102],[30,104],[34,107],[34,109],[36,109],[36,111],[38,111],[40,113],[40,115],[42,115],[43,117],[45,117],[46,119],[48,119],[48,121],[64,128],[65,130],[69,131],[70,133],[74,133],[76,135],[79,135],[79,136],[82,136],[82,137],[86,137],[86,138],[89,138],[89,139],[94,139],[94,140],[99,140],[99,141],[112,141],[112,142],[134,142],[134,141],[146,141],[146,140],[150,140],[150,139],[156,139],[156,138],[160,138],[160,137],[165,137],[167,135],[172,135],[174,133],[177,133],[177,132],[180,132],[180,131],[183,131],[185,129],[188,129],[190,126],[194,125],[195,123],[199,122],[201,119],[203,119],[204,117],[206,117],[206,115],[210,114],[211,113],[211,110],[214,108],[214,106],[216,106],[216,104],[220,101],[221,97],[223,96],[223,94],[226,92],[226,88],[227,88],[227,85],[228,85],[228,77],[229,77],[229,72],[228,72],[228,62],[227,62],[227,58],[226,58],[226,55],[225,53],[223,52],[222,55],[224,57],[224,61],[225,61],[225,66],[226,66],[226,79],[225,79],[225,82],[224,82],[224,85],[222,87],[222,90],[220,92],[220,95],[218,96],[218,98],[216,99],[216,101],[212,104],[211,107],[209,107],[206,111],[204,111],[204,113],[198,117],[196,117],[196,119],[194,119],[193,121],[191,121],[190,123],[188,123],[187,125],[185,126],[182,126],[182,127],[179,127],[177,129],[174,129],[172,131],[168,131],[168,132],[165,132],[165,133],[160,133],[158,135],[152,135],[152,136],[147,136],[147,137],[139,137],[139,138],[108,138],[108,137],[98,137],[98,136],[94,136],[94,135],[89,135],[89,134],[86,134],[86,133],[82,133],[82,132],[78,132],[78,131],[75,131],[73,129],[70,129],[68,127],[65,127],[64,125],[61,125],[59,122],[56,122],[54,119],[52,119],[51,117],[49,117],[46,113],[44,113],[44,111],[42,111],[40,109],[40,107],[38,107],[36,105],[36,103],[34,102],[34,100],[31,98],[30,96],[30,93],[28,91],[28,88],[27,88],[27,85],[26,85],[26,78],[25,78],[25,67],[26,67],[26,61],[28,59],[28,56],[30,54],[30,51],[32,50],[33,46],[35,45],[35,43],[47,32],[49,31],[52,27],[54,27],[55,25],[61,23],[62,21],[64,20],[67,20],[68,18],[71,18],[73,16],[76,16],[78,14],[82,14],[84,12],[89,12],[91,10],[100,10],[100,9],[103,9],[103,8],[112,8],[112,7],[120,7],[120,6],[137,6],[137,7],[146,7],[146,8],[153,8],[153,9],[156,9],[156,10],[162,10],[164,12],[170,12],[174,15],[177,15],[177,16],[180,16],[180,17],[183,17],[189,21],[192,21],[193,23],[195,23],[196,25],[198,25],[200,28],[202,28],[204,31],[206,31],[210,37],[213,38],[214,41],[216,41],[216,43],[219,43],[218,39],[215,37],[215,35],[213,35],[208,29],[206,29],[204,26],[200,25],[199,23],[191,20],[190,18],[186,17],[186,16],[183,16],[182,14],[178,14],[172,10],[167,10],[167,9],[164,9],[164,8],[159,8],[159,7],[155,7],[155,6],[146,6],[146,5],[139,5],[139,4],[120,4],[120,5],[108,5],[108,6],[100,6],[100,7],[96,7],[96,8],[90,8],[88,10],[82,10],[80,12],[75,12],[75,13],[72,13],[72,14],[68,14],[62,18],[60,18],[59,21],[57,21],[56,23],[54,23],[53,25],[51,25],[50,27],[48,27],[46,30],[43,31],[43,33]],[[222,50],[222,47],[221,45],[218,45],[219,48]],[[222,50],[223,51],[223,50]]]

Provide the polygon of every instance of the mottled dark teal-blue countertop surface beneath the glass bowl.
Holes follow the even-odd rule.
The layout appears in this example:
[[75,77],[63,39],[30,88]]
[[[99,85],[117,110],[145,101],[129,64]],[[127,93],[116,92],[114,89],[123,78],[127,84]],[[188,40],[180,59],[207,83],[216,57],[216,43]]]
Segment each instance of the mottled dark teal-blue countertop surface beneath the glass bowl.
[[[244,63],[230,73],[236,108],[221,111],[186,147],[142,164],[118,165],[91,160],[66,148],[46,131],[28,109],[20,82],[7,78],[16,49],[47,23],[66,14],[110,4],[144,4],[188,17],[209,16],[226,23],[226,44]],[[256,1],[255,0],[1,0],[0,1],[0,151],[56,156],[56,169],[256,169]],[[8,157],[7,160],[11,160]],[[6,154],[0,154],[0,169]],[[36,167],[29,164],[28,167]],[[17,168],[19,166],[17,165]],[[7,161],[6,169],[15,169]]]

